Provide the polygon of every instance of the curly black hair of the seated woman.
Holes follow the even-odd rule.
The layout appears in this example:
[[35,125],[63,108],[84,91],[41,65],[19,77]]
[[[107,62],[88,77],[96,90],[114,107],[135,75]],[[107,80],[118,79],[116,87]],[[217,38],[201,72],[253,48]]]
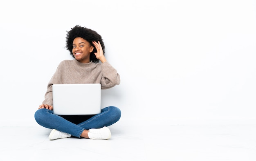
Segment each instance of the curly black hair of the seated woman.
[[73,49],[73,41],[76,37],[81,37],[84,40],[87,40],[92,46],[93,46],[93,51],[90,53],[90,61],[94,63],[98,63],[99,59],[96,58],[94,53],[97,53],[97,50],[95,46],[92,44],[93,41],[100,42],[101,47],[103,50],[103,55],[105,54],[105,45],[103,43],[101,35],[99,35],[96,31],[93,31],[92,29],[88,29],[86,27],[81,27],[80,25],[76,25],[73,28],[71,28],[70,31],[67,31],[67,36],[66,36],[66,46],[65,48],[70,51],[70,55],[74,57],[72,53]]

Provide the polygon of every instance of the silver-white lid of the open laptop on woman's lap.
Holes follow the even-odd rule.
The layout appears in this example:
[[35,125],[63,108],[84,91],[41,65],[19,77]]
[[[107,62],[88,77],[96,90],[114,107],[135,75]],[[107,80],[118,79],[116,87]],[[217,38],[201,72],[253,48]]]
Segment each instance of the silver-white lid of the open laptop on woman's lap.
[[56,115],[95,115],[101,112],[101,84],[53,84]]

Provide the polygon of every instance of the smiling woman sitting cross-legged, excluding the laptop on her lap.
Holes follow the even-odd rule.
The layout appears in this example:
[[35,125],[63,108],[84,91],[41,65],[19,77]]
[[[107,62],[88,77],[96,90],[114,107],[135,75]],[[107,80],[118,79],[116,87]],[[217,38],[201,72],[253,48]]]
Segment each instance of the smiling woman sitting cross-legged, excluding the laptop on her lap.
[[45,100],[35,112],[35,120],[39,125],[53,129],[49,135],[50,140],[71,136],[109,139],[111,132],[107,126],[116,123],[121,117],[121,111],[115,106],[103,108],[97,115],[62,116],[53,113],[53,84],[99,83],[101,89],[120,84],[120,76],[117,70],[107,62],[104,56],[103,40],[96,31],[80,25],[74,26],[67,31],[66,49],[74,59],[63,60],[58,65],[47,85]]

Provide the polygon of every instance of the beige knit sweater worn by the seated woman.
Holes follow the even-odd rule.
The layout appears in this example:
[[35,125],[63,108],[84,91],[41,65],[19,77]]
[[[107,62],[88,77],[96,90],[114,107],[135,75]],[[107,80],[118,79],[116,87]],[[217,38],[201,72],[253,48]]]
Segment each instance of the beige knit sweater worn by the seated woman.
[[117,70],[108,62],[104,63],[80,63],[77,60],[63,60],[50,79],[45,93],[43,104],[53,106],[53,84],[87,84],[99,83],[101,89],[108,89],[120,84],[120,76]]

